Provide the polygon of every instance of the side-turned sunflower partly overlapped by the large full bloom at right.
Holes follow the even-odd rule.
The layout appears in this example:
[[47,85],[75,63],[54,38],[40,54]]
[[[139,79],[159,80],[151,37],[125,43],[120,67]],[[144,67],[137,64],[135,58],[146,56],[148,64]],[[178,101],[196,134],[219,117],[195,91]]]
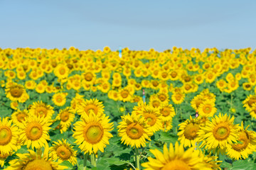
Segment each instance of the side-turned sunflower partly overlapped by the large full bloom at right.
[[181,142],[181,145],[184,147],[196,146],[196,138],[198,137],[197,132],[199,128],[200,121],[193,119],[190,116],[190,120],[179,124],[178,130],[178,141]]

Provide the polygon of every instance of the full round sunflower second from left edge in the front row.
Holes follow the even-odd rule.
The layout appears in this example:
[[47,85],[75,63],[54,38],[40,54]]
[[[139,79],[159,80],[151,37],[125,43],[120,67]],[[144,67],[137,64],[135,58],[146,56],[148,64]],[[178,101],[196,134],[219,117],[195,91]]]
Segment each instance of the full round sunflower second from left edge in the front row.
[[20,127],[20,140],[27,148],[42,148],[48,146],[47,140],[50,140],[48,130],[51,123],[43,117],[30,116],[22,122]]

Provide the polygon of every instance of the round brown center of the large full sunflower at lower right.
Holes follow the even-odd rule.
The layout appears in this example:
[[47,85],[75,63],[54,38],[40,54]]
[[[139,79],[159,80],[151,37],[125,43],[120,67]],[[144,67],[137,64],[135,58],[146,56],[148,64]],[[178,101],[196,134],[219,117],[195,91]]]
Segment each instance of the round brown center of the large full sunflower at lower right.
[[213,130],[213,136],[216,140],[225,140],[230,135],[230,128],[225,123],[220,123]]

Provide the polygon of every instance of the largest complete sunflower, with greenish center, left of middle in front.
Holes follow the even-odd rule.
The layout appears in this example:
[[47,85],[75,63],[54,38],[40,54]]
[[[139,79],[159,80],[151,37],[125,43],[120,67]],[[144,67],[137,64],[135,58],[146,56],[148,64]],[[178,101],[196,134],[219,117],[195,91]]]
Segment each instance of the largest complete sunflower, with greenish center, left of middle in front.
[[109,140],[113,135],[110,131],[113,129],[113,123],[109,123],[109,117],[102,114],[101,117],[90,113],[85,114],[82,121],[78,121],[74,124],[75,143],[79,145],[79,148],[90,154],[97,153],[98,150],[104,152],[106,145],[109,145]]

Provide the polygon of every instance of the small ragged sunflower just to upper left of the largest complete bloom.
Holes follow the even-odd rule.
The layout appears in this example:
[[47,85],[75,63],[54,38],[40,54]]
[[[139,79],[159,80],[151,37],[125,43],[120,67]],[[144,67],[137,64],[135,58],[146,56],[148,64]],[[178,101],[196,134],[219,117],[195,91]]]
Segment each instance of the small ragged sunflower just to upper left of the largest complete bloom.
[[74,121],[75,114],[70,111],[70,108],[60,109],[55,120],[60,120],[60,133],[66,132]]

